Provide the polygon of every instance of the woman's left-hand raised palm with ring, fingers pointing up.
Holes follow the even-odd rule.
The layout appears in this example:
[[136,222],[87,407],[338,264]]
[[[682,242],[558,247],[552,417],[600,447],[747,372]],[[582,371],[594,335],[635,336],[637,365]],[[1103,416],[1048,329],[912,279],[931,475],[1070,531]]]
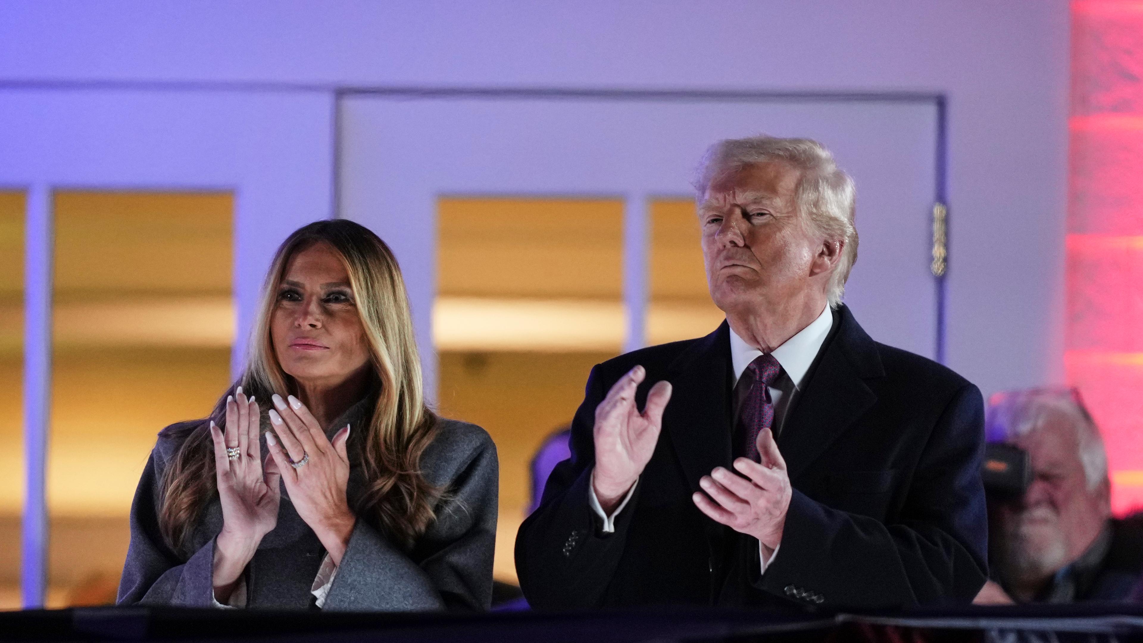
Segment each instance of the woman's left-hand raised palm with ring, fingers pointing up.
[[[281,500],[278,468],[271,462],[265,470],[262,467],[258,405],[254,398],[247,399],[242,387],[234,395],[238,399],[226,398],[225,432],[210,422],[223,517],[214,556],[215,597],[219,601],[230,595],[262,537],[278,524]],[[237,448],[237,457],[230,457],[229,448]]]

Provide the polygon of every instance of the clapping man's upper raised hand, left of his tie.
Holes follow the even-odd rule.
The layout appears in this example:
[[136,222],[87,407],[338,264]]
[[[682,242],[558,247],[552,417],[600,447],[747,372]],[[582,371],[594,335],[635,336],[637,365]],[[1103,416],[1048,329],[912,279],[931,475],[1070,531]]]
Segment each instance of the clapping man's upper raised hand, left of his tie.
[[671,383],[656,382],[647,392],[647,404],[640,413],[636,407],[636,389],[646,376],[644,367],[636,366],[615,382],[596,407],[592,489],[607,513],[631,490],[655,452],[663,410],[671,399]]

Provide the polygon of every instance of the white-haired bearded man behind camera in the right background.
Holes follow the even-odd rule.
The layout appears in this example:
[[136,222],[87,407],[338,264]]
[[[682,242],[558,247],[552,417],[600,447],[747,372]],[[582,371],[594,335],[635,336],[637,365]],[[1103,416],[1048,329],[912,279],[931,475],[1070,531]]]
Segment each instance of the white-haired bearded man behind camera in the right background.
[[990,442],[1029,454],[1018,498],[989,498],[994,580],[978,604],[1129,600],[1143,567],[1143,516],[1111,517],[1103,439],[1074,389],[1000,392],[989,400]]

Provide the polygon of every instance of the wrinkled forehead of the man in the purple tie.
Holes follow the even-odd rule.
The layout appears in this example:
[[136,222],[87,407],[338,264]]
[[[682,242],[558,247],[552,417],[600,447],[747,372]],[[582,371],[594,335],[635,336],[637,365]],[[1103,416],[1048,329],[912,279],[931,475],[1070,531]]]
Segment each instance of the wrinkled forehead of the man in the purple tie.
[[714,173],[698,209],[728,206],[791,207],[801,170],[784,161],[729,167]]

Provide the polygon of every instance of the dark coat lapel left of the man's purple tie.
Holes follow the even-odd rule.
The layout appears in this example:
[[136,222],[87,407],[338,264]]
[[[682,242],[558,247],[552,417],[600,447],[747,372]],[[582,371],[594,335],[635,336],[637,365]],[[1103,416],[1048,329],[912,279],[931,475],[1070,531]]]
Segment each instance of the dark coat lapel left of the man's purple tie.
[[673,388],[663,414],[690,492],[698,478],[730,462],[730,334],[726,322],[670,365]]

